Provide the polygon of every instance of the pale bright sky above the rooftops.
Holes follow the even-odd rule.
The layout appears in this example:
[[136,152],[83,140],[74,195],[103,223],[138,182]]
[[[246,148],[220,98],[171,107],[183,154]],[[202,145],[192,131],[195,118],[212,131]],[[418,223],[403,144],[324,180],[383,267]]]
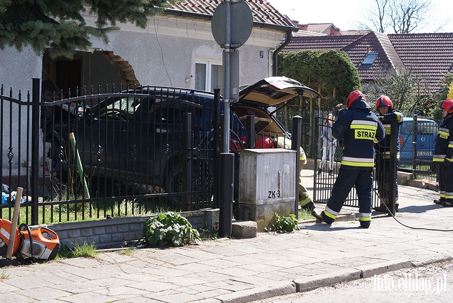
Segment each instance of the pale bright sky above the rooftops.
[[[307,23],[333,23],[340,30],[354,30],[354,22],[360,14],[366,12],[364,4],[370,0],[267,0],[281,14],[287,15],[291,20],[300,24]],[[437,29],[438,20],[449,18],[442,30],[437,32],[453,33],[453,1],[431,0],[433,10],[430,14],[431,24],[416,33],[432,33]],[[448,16],[445,16],[448,12]],[[444,17],[443,17],[444,16]]]

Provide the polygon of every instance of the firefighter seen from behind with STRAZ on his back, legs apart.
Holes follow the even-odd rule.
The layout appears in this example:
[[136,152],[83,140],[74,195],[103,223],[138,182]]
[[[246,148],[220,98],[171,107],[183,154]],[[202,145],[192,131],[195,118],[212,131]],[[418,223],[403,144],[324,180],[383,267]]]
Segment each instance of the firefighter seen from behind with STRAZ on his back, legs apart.
[[312,214],[321,222],[332,224],[355,185],[360,227],[367,229],[371,223],[374,143],[384,139],[385,129],[360,91],[349,94],[346,108],[332,125],[332,137],[343,141],[341,167],[325,210],[314,210]]

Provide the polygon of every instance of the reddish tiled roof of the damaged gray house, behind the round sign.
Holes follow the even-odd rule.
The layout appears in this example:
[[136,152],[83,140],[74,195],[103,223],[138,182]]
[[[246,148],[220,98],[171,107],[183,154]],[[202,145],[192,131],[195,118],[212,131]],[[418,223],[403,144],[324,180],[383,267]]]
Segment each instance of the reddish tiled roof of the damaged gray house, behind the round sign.
[[[274,9],[266,0],[244,0],[250,7],[253,21],[294,27],[293,23]],[[185,0],[175,4],[172,9],[189,13],[212,15],[220,4],[220,0]]]

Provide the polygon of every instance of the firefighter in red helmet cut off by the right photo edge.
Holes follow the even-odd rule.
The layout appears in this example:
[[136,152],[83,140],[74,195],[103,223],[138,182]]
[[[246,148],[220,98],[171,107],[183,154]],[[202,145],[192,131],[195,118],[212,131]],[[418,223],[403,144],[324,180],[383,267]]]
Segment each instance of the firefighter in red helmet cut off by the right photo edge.
[[432,161],[438,164],[437,180],[439,181],[440,199],[434,203],[445,207],[453,206],[453,100],[447,99],[440,103],[442,120],[434,146]]

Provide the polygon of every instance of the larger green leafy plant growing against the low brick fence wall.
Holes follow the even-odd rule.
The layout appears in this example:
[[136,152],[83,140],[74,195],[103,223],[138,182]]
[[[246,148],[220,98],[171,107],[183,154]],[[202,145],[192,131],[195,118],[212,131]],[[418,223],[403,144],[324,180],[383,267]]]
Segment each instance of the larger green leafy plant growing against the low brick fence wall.
[[200,240],[198,231],[192,229],[192,224],[185,217],[176,212],[168,212],[145,221],[140,241],[153,246],[170,243],[180,246],[198,243]]

